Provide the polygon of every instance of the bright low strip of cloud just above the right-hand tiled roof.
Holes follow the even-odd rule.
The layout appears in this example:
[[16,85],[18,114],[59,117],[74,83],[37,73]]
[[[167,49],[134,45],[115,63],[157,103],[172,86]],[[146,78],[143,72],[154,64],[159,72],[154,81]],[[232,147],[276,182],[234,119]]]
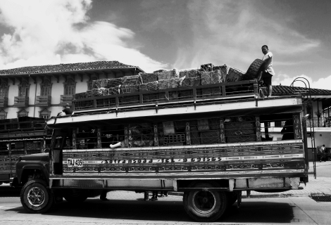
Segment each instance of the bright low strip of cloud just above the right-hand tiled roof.
[[[296,82],[294,82],[296,80]],[[314,80],[312,77],[306,75],[300,75],[296,77],[290,77],[286,74],[280,74],[273,77],[273,85],[285,85],[290,86],[293,83],[294,86],[308,87],[310,85],[311,89],[330,89],[331,75],[325,78],[320,78]]]

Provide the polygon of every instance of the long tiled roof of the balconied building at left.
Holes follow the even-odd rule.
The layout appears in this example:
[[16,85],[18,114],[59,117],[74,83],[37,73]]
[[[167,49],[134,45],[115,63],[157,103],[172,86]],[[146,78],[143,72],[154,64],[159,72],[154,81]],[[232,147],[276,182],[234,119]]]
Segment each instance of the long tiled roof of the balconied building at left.
[[14,68],[10,70],[0,70],[0,75],[22,75],[47,72],[68,72],[82,70],[104,70],[114,68],[138,68],[134,65],[125,65],[118,61],[96,61],[89,63],[67,63],[58,65],[36,65],[24,68]]

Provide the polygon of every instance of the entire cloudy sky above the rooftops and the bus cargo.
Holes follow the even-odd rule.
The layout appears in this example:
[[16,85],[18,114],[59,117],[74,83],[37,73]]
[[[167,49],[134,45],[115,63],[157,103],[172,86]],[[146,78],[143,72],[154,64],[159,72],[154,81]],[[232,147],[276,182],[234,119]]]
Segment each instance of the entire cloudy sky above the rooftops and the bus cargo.
[[1,0],[0,70],[118,60],[246,72],[266,44],[273,85],[331,89],[330,11],[330,0]]

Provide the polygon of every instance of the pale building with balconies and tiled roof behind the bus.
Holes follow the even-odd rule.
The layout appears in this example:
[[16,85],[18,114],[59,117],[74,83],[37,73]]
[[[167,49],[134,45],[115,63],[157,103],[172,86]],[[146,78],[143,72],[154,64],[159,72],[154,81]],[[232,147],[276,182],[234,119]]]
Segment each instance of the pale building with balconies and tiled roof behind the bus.
[[118,61],[42,65],[0,70],[0,120],[17,117],[50,118],[92,89],[94,79],[137,75],[139,67]]

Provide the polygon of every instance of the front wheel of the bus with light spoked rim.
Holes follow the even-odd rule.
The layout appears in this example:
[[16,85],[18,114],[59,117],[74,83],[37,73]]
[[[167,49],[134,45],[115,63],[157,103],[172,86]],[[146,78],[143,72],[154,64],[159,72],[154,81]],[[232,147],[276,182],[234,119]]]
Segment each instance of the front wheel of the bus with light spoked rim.
[[32,179],[20,191],[20,202],[27,212],[43,213],[51,208],[54,198],[44,180]]

